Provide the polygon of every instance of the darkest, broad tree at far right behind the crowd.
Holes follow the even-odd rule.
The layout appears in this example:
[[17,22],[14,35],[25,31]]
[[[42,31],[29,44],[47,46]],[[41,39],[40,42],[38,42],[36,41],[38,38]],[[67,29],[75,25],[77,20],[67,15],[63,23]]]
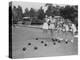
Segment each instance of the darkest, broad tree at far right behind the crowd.
[[70,19],[73,23],[75,23],[75,18],[78,17],[78,10],[75,9],[74,6],[67,5],[60,11],[60,14],[64,18]]

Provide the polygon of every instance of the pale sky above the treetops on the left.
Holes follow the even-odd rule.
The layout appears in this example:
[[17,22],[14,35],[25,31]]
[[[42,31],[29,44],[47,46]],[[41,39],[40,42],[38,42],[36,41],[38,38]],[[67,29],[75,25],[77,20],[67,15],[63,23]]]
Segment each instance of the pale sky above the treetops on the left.
[[41,6],[45,6],[45,3],[36,3],[36,2],[13,2],[12,3],[13,6],[18,7],[18,5],[20,5],[22,7],[22,10],[24,12],[25,8],[28,8],[30,10],[30,8],[34,8],[36,10],[38,10]]

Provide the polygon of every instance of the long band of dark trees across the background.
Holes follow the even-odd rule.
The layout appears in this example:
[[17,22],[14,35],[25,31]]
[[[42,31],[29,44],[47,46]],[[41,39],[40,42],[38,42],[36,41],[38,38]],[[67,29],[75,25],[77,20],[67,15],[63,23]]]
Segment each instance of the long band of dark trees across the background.
[[25,9],[24,13],[22,11],[22,7],[18,6],[16,8],[13,6],[12,9],[12,16],[13,16],[13,22],[17,23],[19,20],[23,20],[23,17],[33,17],[35,19],[32,19],[34,21],[32,22],[41,22],[44,20],[45,15],[47,16],[62,16],[65,19],[70,19],[76,26],[78,26],[78,6],[70,6],[66,5],[65,7],[61,7],[59,5],[54,6],[53,4],[45,4],[45,7],[48,7],[46,12],[44,12],[44,9],[42,9],[42,6],[37,11],[34,8],[31,8],[28,10],[28,8]]

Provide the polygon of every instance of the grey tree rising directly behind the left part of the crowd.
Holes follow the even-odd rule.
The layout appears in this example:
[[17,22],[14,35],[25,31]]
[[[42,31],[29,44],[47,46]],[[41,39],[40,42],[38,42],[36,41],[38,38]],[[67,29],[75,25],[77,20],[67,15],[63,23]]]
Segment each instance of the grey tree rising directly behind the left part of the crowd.
[[45,6],[48,6],[48,9],[46,10],[46,15],[48,16],[58,16],[60,15],[60,6],[56,5],[53,6],[53,4],[45,4]]

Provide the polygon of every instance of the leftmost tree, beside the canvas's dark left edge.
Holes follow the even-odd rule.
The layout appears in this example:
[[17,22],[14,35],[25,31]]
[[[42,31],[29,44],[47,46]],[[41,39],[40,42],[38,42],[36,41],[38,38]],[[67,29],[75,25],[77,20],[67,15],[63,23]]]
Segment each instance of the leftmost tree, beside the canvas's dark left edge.
[[19,20],[22,20],[22,7],[18,6],[18,8],[16,8],[15,6],[13,6],[12,9],[12,17],[13,17],[13,23],[16,24]]

